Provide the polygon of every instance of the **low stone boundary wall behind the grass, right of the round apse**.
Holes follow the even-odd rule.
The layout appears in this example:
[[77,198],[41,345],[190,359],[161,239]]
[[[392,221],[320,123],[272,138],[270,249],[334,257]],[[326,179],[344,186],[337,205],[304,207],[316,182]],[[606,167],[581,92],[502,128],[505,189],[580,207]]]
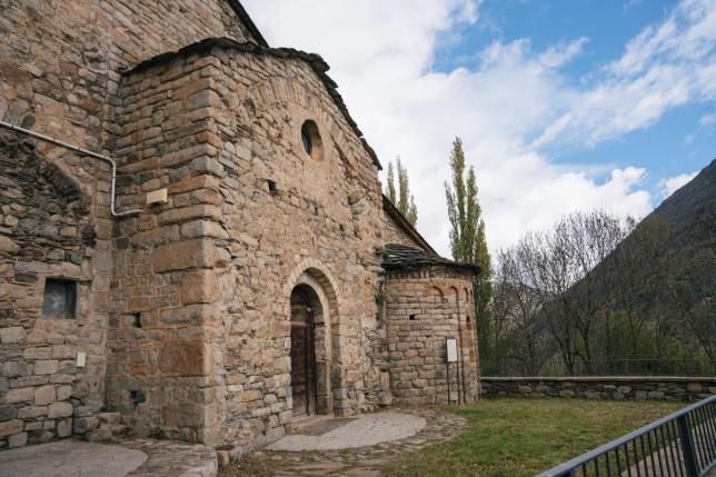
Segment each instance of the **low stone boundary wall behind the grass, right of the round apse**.
[[614,400],[696,401],[716,395],[716,378],[667,376],[484,377],[485,397],[561,397]]

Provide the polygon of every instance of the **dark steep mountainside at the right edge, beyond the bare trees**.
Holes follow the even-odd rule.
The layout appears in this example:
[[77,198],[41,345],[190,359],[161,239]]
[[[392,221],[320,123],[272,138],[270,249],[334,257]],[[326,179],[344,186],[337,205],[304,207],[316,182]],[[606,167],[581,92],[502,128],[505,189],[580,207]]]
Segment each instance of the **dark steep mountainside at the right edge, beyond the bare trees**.
[[[642,220],[593,274],[648,370],[716,371],[716,160]],[[594,282],[594,281],[593,281]],[[615,339],[615,338],[613,338]],[[628,348],[624,348],[625,352]],[[699,358],[700,357],[700,358]],[[708,372],[708,368],[700,368]]]

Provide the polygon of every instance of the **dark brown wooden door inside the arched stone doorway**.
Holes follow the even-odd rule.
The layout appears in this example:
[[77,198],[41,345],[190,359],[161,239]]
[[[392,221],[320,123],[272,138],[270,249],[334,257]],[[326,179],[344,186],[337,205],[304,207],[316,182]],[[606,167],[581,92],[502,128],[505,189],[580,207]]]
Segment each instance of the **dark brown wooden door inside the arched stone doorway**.
[[318,296],[308,285],[291,291],[291,389],[294,416],[316,414],[316,319]]

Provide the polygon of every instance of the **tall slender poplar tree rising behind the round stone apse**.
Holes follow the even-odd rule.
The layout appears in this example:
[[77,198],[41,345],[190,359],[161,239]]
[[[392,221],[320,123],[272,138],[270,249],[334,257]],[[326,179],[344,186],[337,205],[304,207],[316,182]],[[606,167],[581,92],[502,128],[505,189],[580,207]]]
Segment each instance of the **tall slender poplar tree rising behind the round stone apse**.
[[445,182],[448,218],[450,220],[450,250],[453,259],[464,264],[477,265],[480,275],[476,278],[475,320],[483,355],[488,351],[490,332],[489,302],[493,296],[490,256],[485,238],[485,221],[477,200],[477,179],[475,168],[465,171],[463,140],[455,138],[450,153],[451,181]]

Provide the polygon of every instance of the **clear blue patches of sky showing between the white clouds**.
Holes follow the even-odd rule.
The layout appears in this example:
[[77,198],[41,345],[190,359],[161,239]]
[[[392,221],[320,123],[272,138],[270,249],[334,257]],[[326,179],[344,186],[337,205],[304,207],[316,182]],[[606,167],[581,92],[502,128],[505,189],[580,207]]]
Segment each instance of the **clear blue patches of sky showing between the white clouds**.
[[[563,68],[568,80],[579,86],[590,74],[619,58],[625,44],[644,28],[664,21],[677,1],[662,0],[500,0],[480,4],[480,20],[461,24],[438,37],[435,70],[476,68],[481,51],[496,40],[511,42],[529,38],[544,50],[559,42],[587,38],[581,54]],[[636,166],[647,168],[644,186],[653,191],[657,206],[665,192],[662,181],[693,173],[716,158],[714,128],[700,128],[699,120],[714,113],[714,103],[689,103],[665,113],[647,128],[626,133],[595,147],[567,147],[549,150],[551,160],[568,165]],[[607,173],[596,173],[608,179]]]

